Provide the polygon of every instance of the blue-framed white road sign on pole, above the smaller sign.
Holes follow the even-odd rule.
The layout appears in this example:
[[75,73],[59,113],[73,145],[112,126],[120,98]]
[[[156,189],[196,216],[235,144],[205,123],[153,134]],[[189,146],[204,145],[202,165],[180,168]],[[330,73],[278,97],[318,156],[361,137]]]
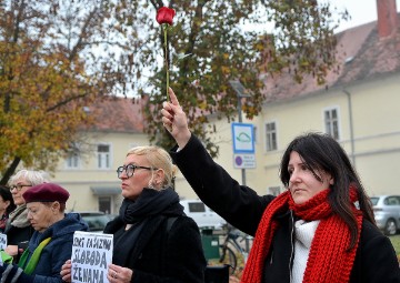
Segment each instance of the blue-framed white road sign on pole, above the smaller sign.
[[252,124],[232,123],[233,153],[254,153]]

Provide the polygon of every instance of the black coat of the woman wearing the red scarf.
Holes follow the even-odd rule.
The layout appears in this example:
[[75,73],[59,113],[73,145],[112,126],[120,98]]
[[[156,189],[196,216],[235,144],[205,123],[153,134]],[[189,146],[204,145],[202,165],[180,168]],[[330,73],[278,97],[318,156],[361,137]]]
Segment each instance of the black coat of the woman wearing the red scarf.
[[[213,162],[201,142],[192,134],[188,144],[171,156],[198,196],[230,224],[254,235],[262,213],[274,199],[259,196],[239,185],[226,170]],[[193,162],[196,160],[196,162]],[[287,212],[279,215],[280,226],[266,259],[263,282],[289,283],[293,220]],[[273,256],[271,261],[271,256]],[[400,270],[390,240],[374,225],[363,221],[351,283],[399,283]]]

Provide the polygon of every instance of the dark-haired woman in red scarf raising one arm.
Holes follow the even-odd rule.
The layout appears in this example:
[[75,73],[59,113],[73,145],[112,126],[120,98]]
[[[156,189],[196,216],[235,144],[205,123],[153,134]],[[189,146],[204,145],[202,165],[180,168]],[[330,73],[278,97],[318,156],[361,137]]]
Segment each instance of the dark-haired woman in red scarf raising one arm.
[[260,196],[212,160],[171,89],[169,94],[161,113],[178,143],[173,161],[209,208],[254,236],[241,282],[400,282],[394,249],[376,226],[361,181],[334,139],[297,137],[280,164],[287,191]]

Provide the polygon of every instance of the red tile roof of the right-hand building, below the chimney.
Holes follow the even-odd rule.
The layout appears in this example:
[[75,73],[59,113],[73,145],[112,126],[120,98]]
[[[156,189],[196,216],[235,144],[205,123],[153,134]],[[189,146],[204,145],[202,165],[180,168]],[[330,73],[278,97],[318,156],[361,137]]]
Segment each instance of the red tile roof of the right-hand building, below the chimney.
[[342,31],[337,37],[339,71],[330,71],[326,84],[318,85],[311,75],[306,77],[301,84],[296,83],[289,73],[282,72],[274,78],[267,75],[266,102],[311,95],[326,89],[400,72],[400,24],[393,34],[386,38],[379,38],[377,21]]

